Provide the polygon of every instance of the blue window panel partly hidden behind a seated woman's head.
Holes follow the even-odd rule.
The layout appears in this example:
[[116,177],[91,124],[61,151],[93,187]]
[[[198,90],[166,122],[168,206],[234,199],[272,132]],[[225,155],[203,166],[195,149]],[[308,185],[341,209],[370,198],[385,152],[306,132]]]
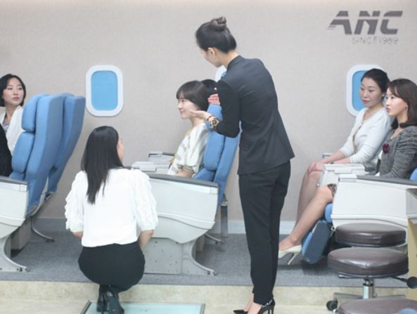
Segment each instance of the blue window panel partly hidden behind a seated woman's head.
[[359,96],[359,89],[361,88],[361,79],[364,76],[364,73],[371,69],[383,70],[379,65],[355,65],[347,72],[346,107],[347,111],[355,117],[358,115],[359,111],[365,107]]

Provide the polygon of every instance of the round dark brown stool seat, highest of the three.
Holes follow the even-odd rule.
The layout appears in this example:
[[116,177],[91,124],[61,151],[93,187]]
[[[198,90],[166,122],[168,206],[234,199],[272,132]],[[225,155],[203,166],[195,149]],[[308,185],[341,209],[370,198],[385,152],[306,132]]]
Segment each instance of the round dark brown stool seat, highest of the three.
[[406,241],[406,231],[383,223],[346,223],[336,229],[335,240],[354,247],[393,247]]

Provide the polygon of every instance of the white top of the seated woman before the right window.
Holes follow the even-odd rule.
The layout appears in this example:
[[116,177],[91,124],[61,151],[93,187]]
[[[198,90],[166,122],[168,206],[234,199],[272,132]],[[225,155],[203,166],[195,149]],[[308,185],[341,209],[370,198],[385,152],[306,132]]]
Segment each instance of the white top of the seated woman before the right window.
[[357,115],[352,131],[340,151],[349,157],[353,164],[364,164],[366,169],[375,169],[378,152],[383,140],[391,129],[391,119],[385,108],[364,121],[367,108]]

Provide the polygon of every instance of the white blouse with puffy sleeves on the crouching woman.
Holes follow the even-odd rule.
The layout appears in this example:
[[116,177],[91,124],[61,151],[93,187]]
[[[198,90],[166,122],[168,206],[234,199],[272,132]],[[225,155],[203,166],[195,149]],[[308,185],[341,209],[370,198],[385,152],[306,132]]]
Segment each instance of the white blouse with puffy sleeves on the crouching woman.
[[65,199],[66,228],[83,232],[84,247],[128,244],[138,239],[140,230],[158,225],[149,177],[140,170],[111,169],[95,204],[87,201],[87,188],[86,173],[79,171]]

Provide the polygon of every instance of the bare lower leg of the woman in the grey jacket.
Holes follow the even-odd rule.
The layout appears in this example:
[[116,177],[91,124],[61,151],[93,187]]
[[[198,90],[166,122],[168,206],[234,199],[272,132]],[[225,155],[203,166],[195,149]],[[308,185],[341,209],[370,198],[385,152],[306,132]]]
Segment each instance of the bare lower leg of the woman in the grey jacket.
[[332,201],[333,196],[327,185],[321,185],[317,188],[316,195],[314,195],[312,201],[307,205],[293,231],[291,231],[288,237],[279,242],[279,249],[289,249],[300,244],[302,238],[307,235],[314,223],[323,216],[326,205]]

